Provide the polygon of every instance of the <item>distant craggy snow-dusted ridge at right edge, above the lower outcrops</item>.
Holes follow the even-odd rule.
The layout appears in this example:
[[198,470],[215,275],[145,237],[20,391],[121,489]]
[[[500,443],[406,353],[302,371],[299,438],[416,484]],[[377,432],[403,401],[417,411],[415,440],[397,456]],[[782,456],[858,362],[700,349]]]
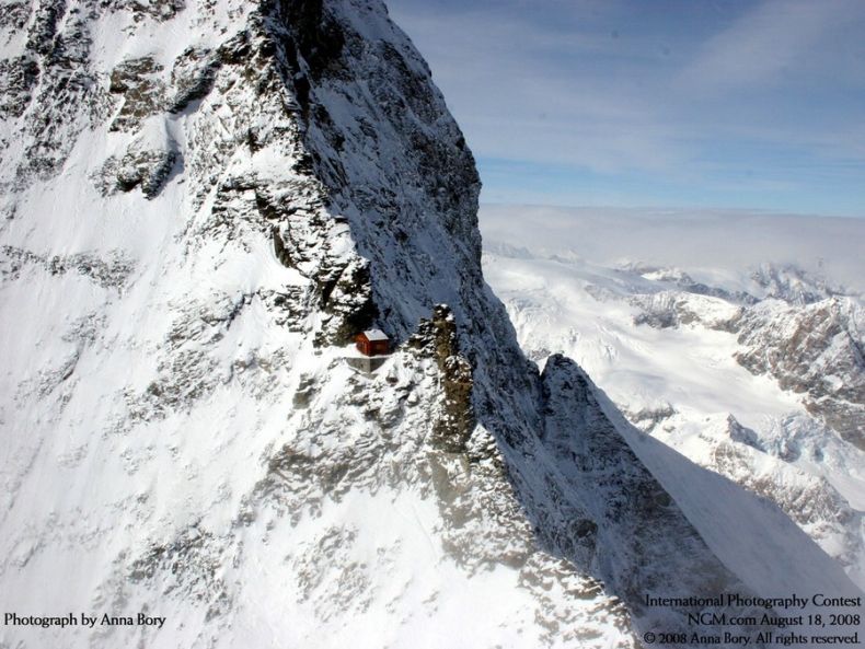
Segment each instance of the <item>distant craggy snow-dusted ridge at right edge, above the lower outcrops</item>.
[[741,349],[735,358],[742,367],[806,395],[810,414],[865,449],[865,315],[858,295],[791,266],[763,264],[753,271],[761,298],[695,283],[681,271],[637,270],[680,288],[630,298],[638,309],[635,324],[736,333]]

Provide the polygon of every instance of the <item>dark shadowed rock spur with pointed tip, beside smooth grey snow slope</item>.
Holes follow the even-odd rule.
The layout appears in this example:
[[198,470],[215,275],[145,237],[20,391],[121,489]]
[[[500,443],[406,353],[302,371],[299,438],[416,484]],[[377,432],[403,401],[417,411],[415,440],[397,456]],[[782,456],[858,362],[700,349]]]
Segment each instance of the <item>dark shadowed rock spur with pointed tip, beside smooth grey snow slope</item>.
[[[545,487],[561,518],[529,512],[538,517],[544,541],[589,570],[599,564],[623,565],[618,553],[641,557],[638,565],[607,577],[608,588],[636,610],[645,586],[656,582],[658,575],[653,572],[669,570],[671,563],[679,564],[672,569],[680,579],[678,588],[706,595],[720,592],[714,590],[718,587],[723,591],[729,573],[708,558],[703,540],[603,413],[585,372],[570,359],[553,355],[541,378],[542,443],[556,459],[563,480],[550,479]],[[591,496],[581,496],[587,494]],[[676,537],[676,556],[653,537]]]

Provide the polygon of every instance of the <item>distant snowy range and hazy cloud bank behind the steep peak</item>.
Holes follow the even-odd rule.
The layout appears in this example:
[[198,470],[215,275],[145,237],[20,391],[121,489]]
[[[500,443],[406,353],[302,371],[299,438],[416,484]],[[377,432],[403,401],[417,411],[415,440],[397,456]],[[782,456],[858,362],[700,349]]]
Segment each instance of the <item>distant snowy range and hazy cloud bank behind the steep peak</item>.
[[777,503],[865,584],[864,222],[491,206],[482,224],[532,358],[573,356],[635,426]]

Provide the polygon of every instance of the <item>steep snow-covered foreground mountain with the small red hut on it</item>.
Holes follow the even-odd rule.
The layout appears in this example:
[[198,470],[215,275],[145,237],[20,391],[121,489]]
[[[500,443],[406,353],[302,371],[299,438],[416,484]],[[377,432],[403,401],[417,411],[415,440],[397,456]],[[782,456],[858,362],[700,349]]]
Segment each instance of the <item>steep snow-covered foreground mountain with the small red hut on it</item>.
[[647,594],[858,594],[527,360],[381,2],[2,9],[0,609],[78,619],[0,646],[632,647],[685,628]]

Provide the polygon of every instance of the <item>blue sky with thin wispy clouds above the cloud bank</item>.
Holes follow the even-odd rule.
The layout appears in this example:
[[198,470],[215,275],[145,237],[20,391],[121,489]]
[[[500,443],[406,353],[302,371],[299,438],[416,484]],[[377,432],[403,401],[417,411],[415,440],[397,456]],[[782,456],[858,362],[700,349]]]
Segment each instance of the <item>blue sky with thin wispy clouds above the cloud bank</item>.
[[482,200],[865,217],[863,0],[388,0]]

